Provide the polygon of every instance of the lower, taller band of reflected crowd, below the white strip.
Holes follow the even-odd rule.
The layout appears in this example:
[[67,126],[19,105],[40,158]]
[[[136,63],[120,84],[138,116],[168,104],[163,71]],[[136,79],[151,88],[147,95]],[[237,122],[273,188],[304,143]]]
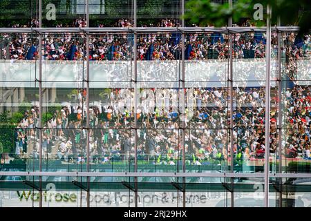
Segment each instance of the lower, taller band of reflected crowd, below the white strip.
[[[123,91],[122,91],[123,90]],[[274,90],[272,90],[273,94]],[[62,160],[85,161],[86,113],[90,117],[89,145],[93,160],[124,160],[134,153],[135,118],[138,126],[138,157],[160,164],[176,164],[182,153],[182,122],[185,121],[185,153],[188,164],[228,160],[263,159],[265,155],[265,88],[235,88],[234,149],[229,151],[228,94],[225,88],[188,88],[185,109],[178,107],[176,89],[142,90],[138,110],[133,113],[133,91],[111,90],[103,102],[91,102],[86,110],[85,90],[79,90],[75,104],[64,104],[44,122],[44,155]],[[272,96],[273,98],[273,96]],[[283,155],[310,158],[311,91],[308,86],[288,88],[283,95],[285,114],[282,130]],[[126,104],[127,102],[127,104]],[[272,102],[276,102],[272,99]],[[26,111],[15,134],[16,153],[37,156],[37,107]],[[270,153],[276,154],[278,113],[270,113]],[[27,147],[29,142],[32,147]],[[28,142],[27,142],[28,141]]]

